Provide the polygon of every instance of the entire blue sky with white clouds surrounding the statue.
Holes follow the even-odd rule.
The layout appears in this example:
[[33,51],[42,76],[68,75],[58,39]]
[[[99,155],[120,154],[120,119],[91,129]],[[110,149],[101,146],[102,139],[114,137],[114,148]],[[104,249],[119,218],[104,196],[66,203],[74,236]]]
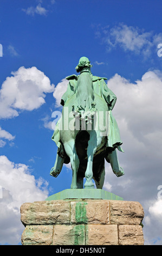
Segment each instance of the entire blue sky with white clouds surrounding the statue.
[[161,8],[153,0],[1,0],[0,244],[20,244],[21,204],[70,187],[69,165],[49,175],[57,151],[51,114],[61,111],[65,78],[82,56],[118,98],[125,175],[107,164],[103,189],[140,202],[145,244],[162,244]]

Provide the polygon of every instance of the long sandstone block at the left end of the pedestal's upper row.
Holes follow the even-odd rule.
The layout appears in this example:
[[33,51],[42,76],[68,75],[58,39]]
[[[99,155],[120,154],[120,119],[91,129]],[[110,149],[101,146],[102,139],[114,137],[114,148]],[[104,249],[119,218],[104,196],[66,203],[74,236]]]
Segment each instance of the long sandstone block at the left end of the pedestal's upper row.
[[70,202],[40,201],[21,206],[21,221],[24,225],[70,223]]

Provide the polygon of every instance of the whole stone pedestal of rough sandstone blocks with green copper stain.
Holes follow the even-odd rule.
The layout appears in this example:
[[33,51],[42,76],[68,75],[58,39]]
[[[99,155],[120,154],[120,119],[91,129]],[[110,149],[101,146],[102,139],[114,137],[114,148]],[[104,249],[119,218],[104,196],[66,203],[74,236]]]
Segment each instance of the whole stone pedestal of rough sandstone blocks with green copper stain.
[[25,203],[22,245],[144,245],[138,202],[62,199]]

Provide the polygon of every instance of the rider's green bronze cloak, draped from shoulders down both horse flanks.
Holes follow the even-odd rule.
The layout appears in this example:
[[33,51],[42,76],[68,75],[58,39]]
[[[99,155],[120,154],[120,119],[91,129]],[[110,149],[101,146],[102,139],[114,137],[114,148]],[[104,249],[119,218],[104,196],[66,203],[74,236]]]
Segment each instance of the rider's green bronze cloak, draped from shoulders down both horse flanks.
[[[62,95],[62,98],[61,98],[60,103],[62,106],[64,106],[64,103],[66,103],[69,97],[73,96],[76,93],[76,83],[77,83],[78,77],[79,76],[76,76],[76,75],[66,77],[69,83],[68,83],[66,92]],[[103,99],[105,99],[108,105],[109,129],[107,134],[107,145],[106,145],[107,150],[106,151],[108,153],[112,153],[112,151],[114,151],[117,148],[119,151],[124,152],[120,147],[122,142],[120,139],[119,127],[112,114],[112,109],[115,105],[117,98],[116,98],[116,95],[107,87],[105,80],[107,80],[107,78],[105,77],[92,76],[94,92],[99,96],[101,96]],[[60,130],[59,130],[60,120],[56,124],[55,131],[51,139],[56,143],[58,147],[57,154],[64,159],[64,163],[69,163],[69,157],[66,155],[63,144],[60,139]]]

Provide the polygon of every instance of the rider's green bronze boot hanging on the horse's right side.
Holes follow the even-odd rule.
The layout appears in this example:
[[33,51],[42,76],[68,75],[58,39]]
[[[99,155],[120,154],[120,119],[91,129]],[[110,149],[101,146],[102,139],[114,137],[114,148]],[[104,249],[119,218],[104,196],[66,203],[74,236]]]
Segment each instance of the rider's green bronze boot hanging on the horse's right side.
[[108,160],[111,164],[113,173],[117,176],[120,177],[122,175],[124,175],[124,169],[122,169],[122,167],[119,166],[119,162],[118,162],[118,156],[116,153],[116,149],[112,152],[108,154]]

